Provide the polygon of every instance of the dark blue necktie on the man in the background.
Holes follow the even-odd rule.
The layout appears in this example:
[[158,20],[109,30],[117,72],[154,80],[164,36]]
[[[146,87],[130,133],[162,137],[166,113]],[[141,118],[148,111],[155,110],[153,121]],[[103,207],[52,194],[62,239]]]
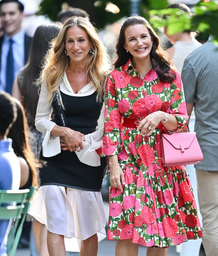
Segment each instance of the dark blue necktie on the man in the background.
[[12,51],[13,40],[9,41],[9,51],[7,54],[7,66],[6,66],[6,89],[5,91],[11,93],[12,85],[14,82],[14,57]]

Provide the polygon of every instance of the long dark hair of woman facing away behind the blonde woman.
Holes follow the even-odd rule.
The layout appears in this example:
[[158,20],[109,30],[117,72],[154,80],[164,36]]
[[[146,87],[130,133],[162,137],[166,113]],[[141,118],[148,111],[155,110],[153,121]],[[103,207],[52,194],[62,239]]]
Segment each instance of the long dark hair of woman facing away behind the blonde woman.
[[39,77],[43,59],[50,42],[58,34],[61,25],[49,23],[37,27],[32,38],[30,57],[27,64],[21,69],[18,75],[18,86],[21,91],[21,102],[26,111],[29,125],[34,125],[36,118],[36,108],[39,100],[38,88],[35,81]]

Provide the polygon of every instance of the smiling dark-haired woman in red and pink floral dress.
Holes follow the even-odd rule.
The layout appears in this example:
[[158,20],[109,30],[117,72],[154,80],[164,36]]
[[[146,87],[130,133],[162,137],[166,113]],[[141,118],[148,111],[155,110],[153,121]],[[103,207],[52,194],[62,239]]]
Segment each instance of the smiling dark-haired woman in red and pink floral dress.
[[[116,256],[166,256],[167,247],[203,237],[184,166],[164,167],[160,135],[188,122],[182,82],[148,21],[123,23],[106,86],[103,147],[110,166],[107,239]],[[153,249],[155,248],[155,249]]]

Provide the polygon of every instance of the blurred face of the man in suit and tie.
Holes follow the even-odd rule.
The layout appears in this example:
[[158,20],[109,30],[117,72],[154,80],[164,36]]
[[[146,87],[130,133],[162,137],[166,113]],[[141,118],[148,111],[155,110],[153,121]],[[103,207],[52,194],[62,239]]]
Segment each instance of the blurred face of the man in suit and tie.
[[21,30],[21,21],[24,15],[16,2],[2,4],[0,15],[3,31],[8,36],[14,36]]

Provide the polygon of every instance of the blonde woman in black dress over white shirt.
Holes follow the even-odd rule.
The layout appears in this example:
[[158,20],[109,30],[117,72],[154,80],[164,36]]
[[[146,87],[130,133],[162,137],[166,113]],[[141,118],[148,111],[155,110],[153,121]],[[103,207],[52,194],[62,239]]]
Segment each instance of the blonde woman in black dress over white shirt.
[[[102,162],[99,158],[99,164],[92,159],[84,164],[79,154],[96,131],[108,69],[108,55],[92,24],[82,17],[69,18],[46,55],[38,81],[42,85],[36,128],[45,137],[49,134],[48,143],[58,141],[57,148],[61,143],[63,149],[50,157],[40,153],[47,164],[40,170],[41,187],[30,209],[48,229],[50,256],[65,255],[65,250],[97,255],[97,243],[106,236]],[[67,127],[61,126],[56,92]]]

